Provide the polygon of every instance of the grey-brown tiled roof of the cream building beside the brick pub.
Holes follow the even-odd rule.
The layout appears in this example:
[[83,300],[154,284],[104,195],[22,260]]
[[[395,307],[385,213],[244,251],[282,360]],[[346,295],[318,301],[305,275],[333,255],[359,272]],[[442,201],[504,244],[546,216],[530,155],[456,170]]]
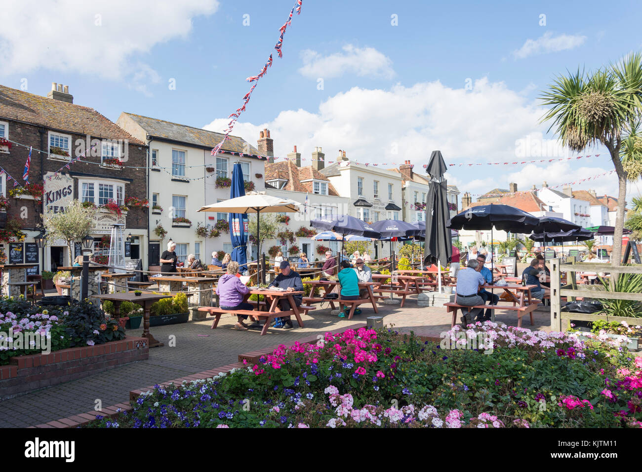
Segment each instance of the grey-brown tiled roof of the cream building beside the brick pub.
[[[221,139],[225,136],[224,134],[217,133],[215,131],[208,131],[188,125],[180,125],[179,123],[172,123],[171,121],[165,121],[164,119],[150,118],[148,116],[141,116],[128,112],[123,112],[123,114],[138,123],[138,125],[143,128],[147,134],[160,139],[169,139],[171,141],[179,141],[180,143],[193,144],[195,146],[202,146],[205,148],[214,148],[214,146],[220,143]],[[252,146],[252,144],[247,143],[247,141],[242,137],[230,134],[229,138],[230,139],[223,143],[223,150],[259,155],[259,150]]]

